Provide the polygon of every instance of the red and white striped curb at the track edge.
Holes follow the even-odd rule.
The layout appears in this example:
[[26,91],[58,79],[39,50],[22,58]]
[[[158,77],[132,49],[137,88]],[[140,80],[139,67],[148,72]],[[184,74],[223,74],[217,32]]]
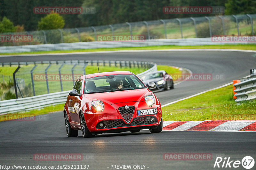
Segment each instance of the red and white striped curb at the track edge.
[[163,131],[256,131],[256,120],[163,121]]

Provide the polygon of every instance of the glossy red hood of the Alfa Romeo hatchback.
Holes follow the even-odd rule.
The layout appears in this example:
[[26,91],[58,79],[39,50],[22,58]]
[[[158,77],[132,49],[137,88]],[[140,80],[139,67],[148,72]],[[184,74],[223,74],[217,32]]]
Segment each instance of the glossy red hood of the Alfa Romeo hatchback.
[[152,93],[148,89],[135,89],[135,90],[124,90],[124,91],[113,91],[105,93],[93,93],[85,94],[84,97],[87,99],[100,100],[109,105],[115,103],[124,102],[142,102],[144,97],[151,95]]

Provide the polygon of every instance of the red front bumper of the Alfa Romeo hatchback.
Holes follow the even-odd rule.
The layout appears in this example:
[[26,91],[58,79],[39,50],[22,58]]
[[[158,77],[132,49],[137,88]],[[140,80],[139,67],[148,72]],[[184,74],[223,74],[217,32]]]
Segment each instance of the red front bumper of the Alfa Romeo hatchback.
[[[118,108],[125,105],[135,107],[131,121],[129,123],[124,120],[118,110]],[[151,108],[156,108],[157,113],[138,116],[137,110]],[[159,125],[162,119],[161,106],[157,102],[155,102],[152,107],[148,107],[145,102],[126,102],[113,105],[105,105],[105,108],[102,112],[86,112],[84,115],[89,131],[94,134],[109,133],[112,131],[123,132],[139,129],[152,129],[152,126]],[[154,118],[154,121],[150,121],[150,118]],[[104,125],[100,126],[100,123],[103,123]]]

